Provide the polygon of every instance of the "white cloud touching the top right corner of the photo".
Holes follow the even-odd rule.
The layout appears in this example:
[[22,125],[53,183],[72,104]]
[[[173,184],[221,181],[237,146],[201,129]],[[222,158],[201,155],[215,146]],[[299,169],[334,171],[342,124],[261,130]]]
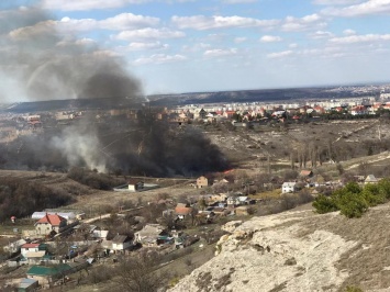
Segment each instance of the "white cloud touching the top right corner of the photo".
[[368,14],[389,13],[390,0],[368,0],[359,4],[344,8],[327,8],[322,11],[324,14],[333,16],[360,16]]

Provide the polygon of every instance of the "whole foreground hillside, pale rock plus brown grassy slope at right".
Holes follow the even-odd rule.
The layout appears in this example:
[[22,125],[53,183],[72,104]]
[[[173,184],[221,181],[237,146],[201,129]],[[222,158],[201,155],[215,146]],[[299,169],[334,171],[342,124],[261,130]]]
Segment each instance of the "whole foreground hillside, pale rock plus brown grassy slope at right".
[[230,223],[219,255],[170,291],[389,291],[389,210],[359,220],[291,211]]

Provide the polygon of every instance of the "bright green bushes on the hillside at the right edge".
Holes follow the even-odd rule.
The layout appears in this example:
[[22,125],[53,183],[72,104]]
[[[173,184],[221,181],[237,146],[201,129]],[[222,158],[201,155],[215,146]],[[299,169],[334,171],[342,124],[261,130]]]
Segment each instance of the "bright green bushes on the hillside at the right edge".
[[390,200],[390,179],[382,179],[376,184],[360,187],[349,182],[334,191],[330,196],[319,195],[313,206],[320,214],[339,211],[348,218],[360,217],[370,206]]

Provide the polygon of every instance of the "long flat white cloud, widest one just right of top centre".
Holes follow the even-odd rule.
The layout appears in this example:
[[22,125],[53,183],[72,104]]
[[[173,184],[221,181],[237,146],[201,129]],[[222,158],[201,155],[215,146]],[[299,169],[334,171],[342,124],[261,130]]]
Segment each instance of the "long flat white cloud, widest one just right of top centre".
[[229,27],[272,27],[278,20],[257,20],[242,16],[172,16],[171,22],[179,29],[212,30]]

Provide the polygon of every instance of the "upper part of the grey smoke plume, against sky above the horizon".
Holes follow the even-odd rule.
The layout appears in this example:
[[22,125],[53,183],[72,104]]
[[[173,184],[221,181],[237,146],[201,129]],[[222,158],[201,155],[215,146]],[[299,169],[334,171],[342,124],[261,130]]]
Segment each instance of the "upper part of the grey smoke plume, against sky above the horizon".
[[124,69],[123,58],[57,25],[38,8],[0,12],[3,99],[140,99],[140,82]]

